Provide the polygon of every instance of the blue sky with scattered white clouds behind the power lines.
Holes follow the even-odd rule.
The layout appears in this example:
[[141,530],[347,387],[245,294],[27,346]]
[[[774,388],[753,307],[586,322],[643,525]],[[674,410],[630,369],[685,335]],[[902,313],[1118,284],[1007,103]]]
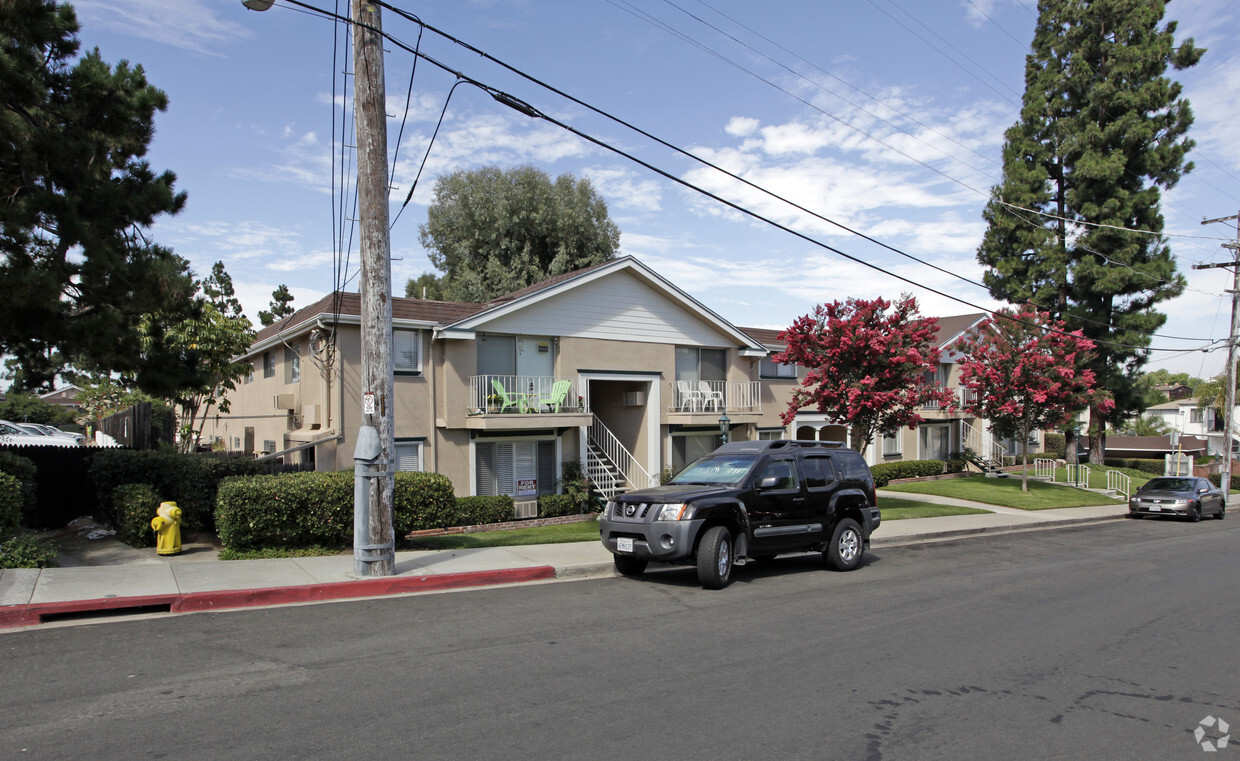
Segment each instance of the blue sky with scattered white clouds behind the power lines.
[[[389,1],[823,217],[981,280],[981,211],[1001,177],[1003,130],[1018,117],[1034,0]],[[336,0],[310,4],[337,10]],[[100,48],[113,63],[140,63],[169,95],[149,159],[177,174],[188,203],[156,224],[155,238],[198,274],[222,260],[252,319],[279,284],[293,290],[295,306],[329,293],[340,208],[332,175],[339,186],[355,171],[351,151],[341,165],[340,145],[353,138],[334,25],[283,0],[263,14],[241,0],[74,5],[86,48]],[[339,2],[339,12],[346,9]],[[1209,52],[1174,74],[1197,117],[1197,169],[1167,193],[1163,209],[1189,290],[1161,305],[1169,320],[1159,335],[1169,337],[1153,346],[1194,348],[1225,337],[1229,323],[1228,270],[1192,265],[1224,260],[1219,244],[1235,235],[1234,223],[1203,227],[1200,219],[1240,211],[1240,6],[1179,0],[1167,17],[1179,21],[1178,40],[1192,36]],[[418,43],[414,24],[386,12],[383,25]],[[389,150],[403,121],[394,216],[454,77],[422,62],[407,98],[413,57],[389,51]],[[424,33],[422,51],[821,243],[998,306],[975,285],[739,186],[434,33]],[[456,88],[413,201],[393,227],[397,294],[430,269],[418,226],[435,177],[489,164],[589,177],[621,229],[621,253],[737,325],[779,328],[820,302],[901,293],[913,293],[923,314],[976,311],[744,217],[471,87]],[[356,271],[356,238],[350,248]],[[356,280],[347,288],[356,290]],[[1224,351],[1158,351],[1147,369],[1208,377],[1224,364]]]

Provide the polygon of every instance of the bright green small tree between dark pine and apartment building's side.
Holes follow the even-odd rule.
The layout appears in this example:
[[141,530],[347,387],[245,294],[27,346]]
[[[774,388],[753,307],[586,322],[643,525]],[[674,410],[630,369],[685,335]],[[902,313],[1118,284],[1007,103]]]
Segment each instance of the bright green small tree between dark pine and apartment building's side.
[[197,286],[188,317],[167,321],[156,315],[144,321],[146,363],[134,379],[144,392],[172,400],[182,451],[193,450],[212,407],[228,411],[228,392],[254,369],[234,359],[253,343],[254,330],[223,263],[216,262]]

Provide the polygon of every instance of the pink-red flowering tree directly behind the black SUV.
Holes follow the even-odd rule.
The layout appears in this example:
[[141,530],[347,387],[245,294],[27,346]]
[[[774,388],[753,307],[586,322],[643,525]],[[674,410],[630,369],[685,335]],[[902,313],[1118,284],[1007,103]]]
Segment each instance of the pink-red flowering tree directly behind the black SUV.
[[779,335],[787,348],[773,357],[808,371],[792,392],[784,425],[805,408],[831,413],[852,430],[853,446],[866,451],[878,434],[916,428],[919,408],[952,408],[954,394],[932,381],[937,328],[937,320],[918,315],[911,296],[848,299],[797,317]]

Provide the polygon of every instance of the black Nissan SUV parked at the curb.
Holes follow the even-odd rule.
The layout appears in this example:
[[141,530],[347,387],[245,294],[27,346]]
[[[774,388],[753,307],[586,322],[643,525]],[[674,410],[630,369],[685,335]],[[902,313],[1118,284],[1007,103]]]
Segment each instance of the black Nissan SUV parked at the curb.
[[636,576],[650,560],[697,564],[707,589],[723,589],[733,564],[780,553],[821,552],[853,570],[878,528],[874,477],[838,441],[735,441],[656,488],[608,502],[599,535],[616,570]]

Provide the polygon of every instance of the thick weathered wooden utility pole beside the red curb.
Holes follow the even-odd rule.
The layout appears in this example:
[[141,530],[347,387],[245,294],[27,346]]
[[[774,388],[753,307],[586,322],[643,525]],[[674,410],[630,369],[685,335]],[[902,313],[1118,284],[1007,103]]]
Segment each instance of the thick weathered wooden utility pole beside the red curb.
[[[366,503],[353,506],[353,570],[360,576],[391,576],[396,565],[392,528],[396,477],[392,456],[392,257],[383,40],[378,31],[382,29],[378,5],[352,0],[352,6],[353,119],[357,125],[362,259],[362,430],[353,457],[358,464],[356,472],[361,475],[365,470],[363,477],[371,485],[366,490]],[[374,434],[367,428],[377,431],[377,447]],[[361,493],[361,490],[355,493]]]

